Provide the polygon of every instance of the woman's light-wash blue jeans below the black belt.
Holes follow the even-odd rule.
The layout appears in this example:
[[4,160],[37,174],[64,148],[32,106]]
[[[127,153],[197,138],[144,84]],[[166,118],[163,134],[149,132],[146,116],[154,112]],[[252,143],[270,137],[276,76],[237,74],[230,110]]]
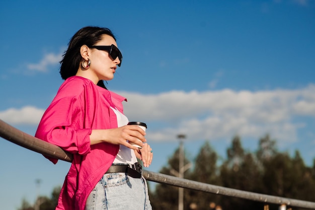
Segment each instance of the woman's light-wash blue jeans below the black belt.
[[85,210],[151,210],[144,177],[125,173],[104,174],[90,193]]

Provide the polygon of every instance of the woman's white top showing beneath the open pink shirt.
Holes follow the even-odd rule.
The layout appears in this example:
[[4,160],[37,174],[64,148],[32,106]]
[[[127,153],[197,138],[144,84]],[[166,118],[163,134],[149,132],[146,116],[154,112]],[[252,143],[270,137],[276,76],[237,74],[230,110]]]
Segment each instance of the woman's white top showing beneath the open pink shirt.
[[[121,127],[121,126],[128,124],[129,120],[124,114],[122,114],[116,108],[111,107],[111,109],[115,112],[115,114],[117,116],[118,127]],[[124,145],[120,145],[119,152],[118,152],[113,163],[134,164],[136,162],[138,162],[138,161],[137,161],[137,158],[134,154],[134,151],[131,150],[130,148],[127,148]]]

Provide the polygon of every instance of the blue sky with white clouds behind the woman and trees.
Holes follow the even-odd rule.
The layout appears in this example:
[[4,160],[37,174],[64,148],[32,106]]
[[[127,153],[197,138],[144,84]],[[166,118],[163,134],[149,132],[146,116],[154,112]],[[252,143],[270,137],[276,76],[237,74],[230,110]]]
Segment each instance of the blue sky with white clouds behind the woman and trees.
[[[34,134],[63,82],[59,63],[80,28],[110,28],[123,63],[107,87],[130,121],[148,125],[158,172],[179,145],[193,159],[205,141],[225,157],[238,134],[254,151],[315,157],[315,1],[3,1],[0,119]],[[69,163],[0,139],[0,209],[61,185]],[[41,179],[39,188],[35,180]]]

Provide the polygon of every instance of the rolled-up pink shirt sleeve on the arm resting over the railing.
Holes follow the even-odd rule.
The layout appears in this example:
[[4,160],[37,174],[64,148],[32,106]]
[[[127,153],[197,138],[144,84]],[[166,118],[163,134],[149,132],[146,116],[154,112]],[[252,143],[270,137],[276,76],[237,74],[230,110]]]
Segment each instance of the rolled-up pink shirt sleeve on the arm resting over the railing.
[[[80,97],[78,97],[80,98]],[[54,101],[45,111],[35,136],[70,153],[90,152],[91,128],[84,128],[82,104],[76,97]],[[53,163],[56,159],[49,158]]]

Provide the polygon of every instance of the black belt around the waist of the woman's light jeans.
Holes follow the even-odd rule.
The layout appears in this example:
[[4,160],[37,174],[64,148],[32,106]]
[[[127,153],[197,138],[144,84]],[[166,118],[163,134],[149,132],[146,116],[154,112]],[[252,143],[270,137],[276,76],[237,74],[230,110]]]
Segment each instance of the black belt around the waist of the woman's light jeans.
[[133,178],[140,178],[142,176],[142,167],[139,163],[135,164],[113,164],[107,170],[106,174],[109,173],[127,173]]

